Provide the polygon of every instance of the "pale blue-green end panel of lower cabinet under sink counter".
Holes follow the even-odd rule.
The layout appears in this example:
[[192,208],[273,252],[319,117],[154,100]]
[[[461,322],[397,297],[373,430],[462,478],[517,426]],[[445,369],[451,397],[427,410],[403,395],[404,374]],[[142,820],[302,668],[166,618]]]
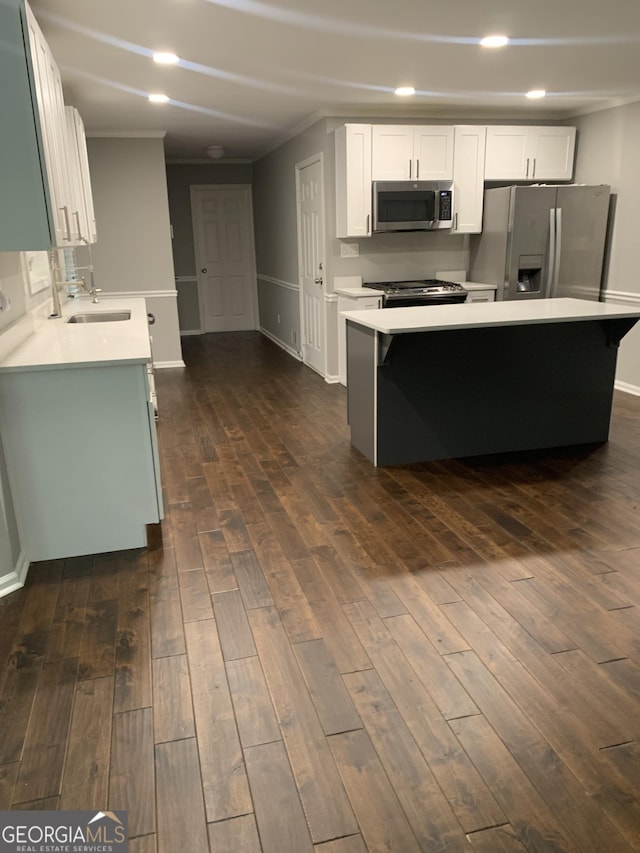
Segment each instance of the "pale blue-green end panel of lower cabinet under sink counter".
[[30,562],[146,545],[163,516],[146,364],[2,373],[0,433]]

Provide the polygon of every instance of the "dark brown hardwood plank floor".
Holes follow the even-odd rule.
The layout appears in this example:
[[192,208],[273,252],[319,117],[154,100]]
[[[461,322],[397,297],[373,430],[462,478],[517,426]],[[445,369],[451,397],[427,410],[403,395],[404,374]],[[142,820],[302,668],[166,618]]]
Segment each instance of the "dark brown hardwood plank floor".
[[184,351],[149,548],[0,600],[0,809],[127,809],[132,853],[639,850],[640,398],[604,446],[376,470],[258,334]]

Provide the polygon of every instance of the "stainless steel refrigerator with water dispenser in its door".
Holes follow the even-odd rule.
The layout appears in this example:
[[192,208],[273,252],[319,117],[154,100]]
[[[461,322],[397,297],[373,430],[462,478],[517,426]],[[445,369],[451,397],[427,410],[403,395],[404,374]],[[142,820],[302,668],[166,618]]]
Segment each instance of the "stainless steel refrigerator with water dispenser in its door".
[[469,280],[496,299],[600,299],[610,187],[579,184],[485,190]]

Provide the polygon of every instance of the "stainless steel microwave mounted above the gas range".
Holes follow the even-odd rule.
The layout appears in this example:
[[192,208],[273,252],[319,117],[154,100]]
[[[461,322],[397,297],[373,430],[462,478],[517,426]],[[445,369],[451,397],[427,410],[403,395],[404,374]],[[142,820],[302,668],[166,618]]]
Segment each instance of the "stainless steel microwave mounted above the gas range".
[[373,231],[435,231],[453,225],[451,181],[374,181]]

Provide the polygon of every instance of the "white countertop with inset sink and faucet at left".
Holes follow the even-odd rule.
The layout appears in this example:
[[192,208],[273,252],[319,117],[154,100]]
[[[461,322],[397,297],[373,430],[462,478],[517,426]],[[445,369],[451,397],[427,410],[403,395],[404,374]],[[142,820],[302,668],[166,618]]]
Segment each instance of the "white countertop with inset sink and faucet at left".
[[[72,314],[131,311],[131,319],[111,323],[66,323]],[[62,306],[62,318],[45,320],[34,333],[0,361],[0,372],[144,364],[151,344],[144,299],[108,299],[94,304],[73,299]]]

